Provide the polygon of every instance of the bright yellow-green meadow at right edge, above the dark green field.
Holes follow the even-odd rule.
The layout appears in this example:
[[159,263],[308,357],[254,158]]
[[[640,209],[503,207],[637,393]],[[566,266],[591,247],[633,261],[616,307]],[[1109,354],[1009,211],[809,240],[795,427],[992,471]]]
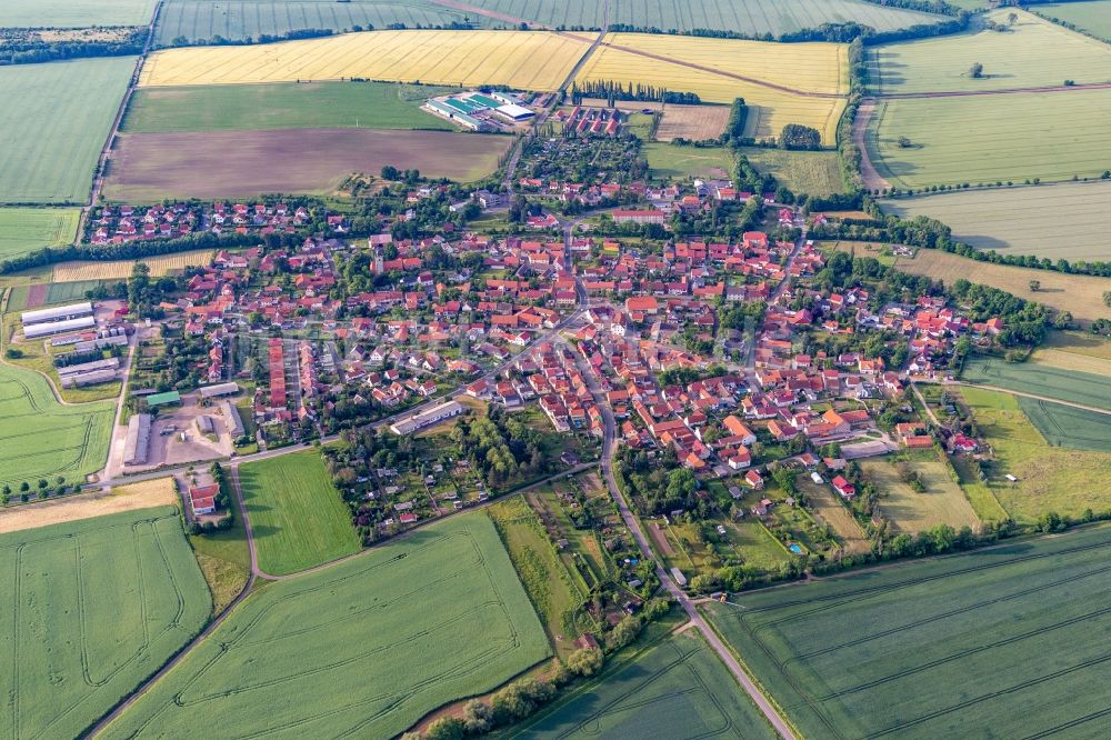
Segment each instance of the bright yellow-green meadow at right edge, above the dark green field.
[[[1009,393],[961,388],[992,456],[988,487],[1020,523],[1047,511],[1080,517],[1111,507],[1111,454],[1051,447]],[[1018,478],[1012,483],[1011,474]]]

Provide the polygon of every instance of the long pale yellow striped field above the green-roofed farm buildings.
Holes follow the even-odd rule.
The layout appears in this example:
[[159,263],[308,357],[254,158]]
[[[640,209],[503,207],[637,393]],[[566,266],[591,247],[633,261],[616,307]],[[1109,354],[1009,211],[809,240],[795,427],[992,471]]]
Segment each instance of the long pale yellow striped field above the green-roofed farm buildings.
[[427,84],[557,90],[589,41],[540,31],[367,31],[247,47],[152,54],[140,87],[362,78]]

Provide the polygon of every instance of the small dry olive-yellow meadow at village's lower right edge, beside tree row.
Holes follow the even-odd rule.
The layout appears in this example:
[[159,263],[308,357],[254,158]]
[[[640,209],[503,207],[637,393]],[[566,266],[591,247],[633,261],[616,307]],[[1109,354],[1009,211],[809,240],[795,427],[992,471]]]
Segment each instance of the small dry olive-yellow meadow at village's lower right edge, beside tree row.
[[900,458],[861,460],[860,469],[880,491],[880,511],[895,532],[914,534],[938,524],[979,529],[980,520],[964,491],[950,477],[933,450],[904,453],[907,464],[919,474],[925,491],[918,493],[899,474]]

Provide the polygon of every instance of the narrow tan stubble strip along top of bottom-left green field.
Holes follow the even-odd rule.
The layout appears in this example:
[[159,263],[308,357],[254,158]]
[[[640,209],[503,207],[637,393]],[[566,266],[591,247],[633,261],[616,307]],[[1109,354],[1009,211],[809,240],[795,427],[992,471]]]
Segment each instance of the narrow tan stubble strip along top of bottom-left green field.
[[106,514],[177,506],[180,502],[172,478],[132,483],[113,488],[110,493],[97,491],[73,497],[0,509],[0,534],[24,529],[38,529],[68,521],[92,519]]

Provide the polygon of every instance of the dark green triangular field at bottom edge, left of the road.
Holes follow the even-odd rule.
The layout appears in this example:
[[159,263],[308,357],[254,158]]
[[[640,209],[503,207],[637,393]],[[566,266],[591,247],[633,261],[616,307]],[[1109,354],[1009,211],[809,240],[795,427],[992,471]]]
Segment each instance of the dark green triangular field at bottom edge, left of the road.
[[607,671],[514,737],[770,740],[777,736],[692,630]]

